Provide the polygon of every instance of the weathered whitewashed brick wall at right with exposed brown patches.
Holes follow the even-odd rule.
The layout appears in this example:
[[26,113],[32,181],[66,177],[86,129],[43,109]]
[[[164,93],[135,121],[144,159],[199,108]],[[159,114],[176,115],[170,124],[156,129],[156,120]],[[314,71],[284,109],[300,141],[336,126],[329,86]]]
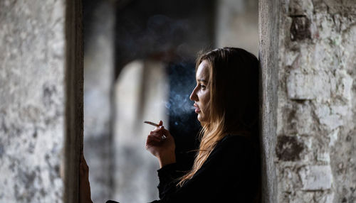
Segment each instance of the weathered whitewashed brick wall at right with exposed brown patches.
[[278,202],[356,202],[355,1],[281,1]]

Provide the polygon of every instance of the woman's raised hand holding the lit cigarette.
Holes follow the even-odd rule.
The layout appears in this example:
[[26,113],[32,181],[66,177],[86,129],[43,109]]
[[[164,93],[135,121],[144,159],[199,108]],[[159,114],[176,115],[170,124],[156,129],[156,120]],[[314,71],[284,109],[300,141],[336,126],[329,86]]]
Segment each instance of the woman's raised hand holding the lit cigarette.
[[175,163],[175,144],[171,133],[164,128],[163,122],[159,121],[159,126],[147,136],[146,149],[155,155],[159,160],[159,166]]

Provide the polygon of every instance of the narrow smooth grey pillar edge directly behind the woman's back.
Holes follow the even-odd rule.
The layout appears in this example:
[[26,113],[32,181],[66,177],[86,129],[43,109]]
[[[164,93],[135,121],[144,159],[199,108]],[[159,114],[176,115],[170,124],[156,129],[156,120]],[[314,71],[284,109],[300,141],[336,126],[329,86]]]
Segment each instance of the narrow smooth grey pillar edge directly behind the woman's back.
[[262,158],[262,202],[277,201],[274,164],[277,121],[279,0],[258,4],[260,71],[260,131]]

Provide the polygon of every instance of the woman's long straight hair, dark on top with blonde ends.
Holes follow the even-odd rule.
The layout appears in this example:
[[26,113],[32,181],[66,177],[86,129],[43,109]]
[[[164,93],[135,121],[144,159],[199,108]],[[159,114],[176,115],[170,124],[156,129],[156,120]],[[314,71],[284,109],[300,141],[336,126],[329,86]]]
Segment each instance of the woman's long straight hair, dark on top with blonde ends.
[[201,168],[224,136],[248,136],[258,130],[257,58],[240,48],[219,48],[200,54],[196,70],[203,60],[209,67],[209,122],[202,123],[198,153],[192,170],[177,183],[180,187]]

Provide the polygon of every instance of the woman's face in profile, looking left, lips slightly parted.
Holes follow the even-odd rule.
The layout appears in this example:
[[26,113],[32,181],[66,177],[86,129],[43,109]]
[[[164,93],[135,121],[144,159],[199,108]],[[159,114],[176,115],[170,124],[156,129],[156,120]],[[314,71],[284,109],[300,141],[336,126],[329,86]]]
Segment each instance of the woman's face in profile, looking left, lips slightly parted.
[[209,67],[206,60],[203,60],[197,70],[197,86],[193,89],[189,99],[194,102],[195,113],[198,114],[200,123],[209,121],[210,115],[210,90],[208,86]]

